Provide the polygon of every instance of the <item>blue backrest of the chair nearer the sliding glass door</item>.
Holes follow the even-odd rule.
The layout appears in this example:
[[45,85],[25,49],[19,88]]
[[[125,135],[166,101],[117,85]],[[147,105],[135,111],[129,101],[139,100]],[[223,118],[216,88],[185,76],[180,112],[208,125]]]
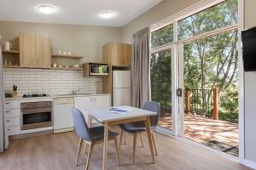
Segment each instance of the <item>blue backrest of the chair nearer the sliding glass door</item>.
[[150,116],[150,126],[157,126],[160,115],[160,104],[155,101],[146,101],[143,104],[143,110],[157,112],[157,115]]

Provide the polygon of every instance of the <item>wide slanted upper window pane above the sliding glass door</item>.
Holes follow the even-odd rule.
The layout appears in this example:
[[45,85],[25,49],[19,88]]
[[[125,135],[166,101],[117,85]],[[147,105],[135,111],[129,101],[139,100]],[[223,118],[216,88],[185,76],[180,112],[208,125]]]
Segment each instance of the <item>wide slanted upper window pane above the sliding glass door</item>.
[[177,22],[179,40],[237,23],[237,0],[227,0]]

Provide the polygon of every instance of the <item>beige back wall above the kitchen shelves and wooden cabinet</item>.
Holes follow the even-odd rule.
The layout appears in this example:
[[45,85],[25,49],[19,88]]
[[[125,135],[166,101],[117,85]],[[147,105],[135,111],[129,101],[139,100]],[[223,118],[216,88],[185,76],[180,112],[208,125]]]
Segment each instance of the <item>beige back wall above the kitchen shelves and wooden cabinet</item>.
[[73,54],[84,56],[81,63],[101,62],[102,46],[108,42],[120,41],[119,27],[0,21],[2,45],[5,41],[11,41],[15,45],[14,48],[18,48],[20,31],[48,35],[53,54],[57,54],[59,49],[71,50]]

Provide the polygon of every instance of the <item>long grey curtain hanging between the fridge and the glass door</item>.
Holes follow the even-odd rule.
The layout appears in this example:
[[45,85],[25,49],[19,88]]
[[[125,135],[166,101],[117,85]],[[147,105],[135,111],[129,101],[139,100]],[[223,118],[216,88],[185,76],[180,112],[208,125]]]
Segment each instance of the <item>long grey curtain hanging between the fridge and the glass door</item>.
[[132,35],[131,105],[141,108],[148,100],[149,28]]

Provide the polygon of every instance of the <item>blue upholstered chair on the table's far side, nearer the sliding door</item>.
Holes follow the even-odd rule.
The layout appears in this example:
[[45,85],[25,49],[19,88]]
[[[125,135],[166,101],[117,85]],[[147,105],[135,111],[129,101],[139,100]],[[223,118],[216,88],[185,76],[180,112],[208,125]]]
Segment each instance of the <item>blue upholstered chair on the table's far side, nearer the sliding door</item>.
[[[157,150],[154,142],[154,129],[156,128],[159,121],[160,114],[160,104],[154,101],[147,101],[143,104],[143,110],[154,111],[157,112],[157,115],[150,116],[150,126],[151,126],[151,136],[154,144],[155,155],[157,155]],[[135,162],[135,152],[136,152],[136,144],[137,144],[137,135],[140,135],[142,145],[143,139],[141,133],[146,132],[145,122],[131,122],[119,125],[121,128],[120,141],[119,141],[119,151],[121,147],[122,138],[125,133],[133,134],[133,163]]]

